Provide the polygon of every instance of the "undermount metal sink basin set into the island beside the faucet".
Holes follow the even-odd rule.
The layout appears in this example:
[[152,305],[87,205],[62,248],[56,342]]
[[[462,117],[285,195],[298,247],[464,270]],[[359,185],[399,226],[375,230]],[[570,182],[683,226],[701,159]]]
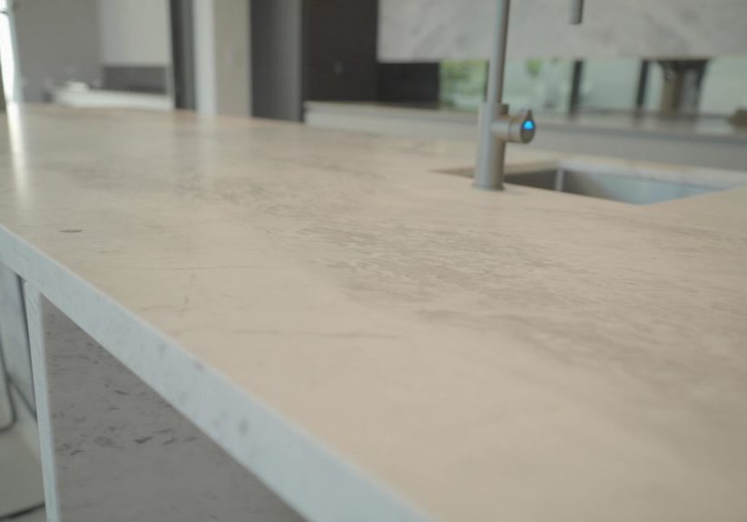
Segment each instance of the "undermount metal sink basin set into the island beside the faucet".
[[[472,177],[473,169],[441,172]],[[651,205],[747,185],[747,174],[707,169],[625,169],[624,165],[568,161],[547,169],[509,170],[506,184]]]

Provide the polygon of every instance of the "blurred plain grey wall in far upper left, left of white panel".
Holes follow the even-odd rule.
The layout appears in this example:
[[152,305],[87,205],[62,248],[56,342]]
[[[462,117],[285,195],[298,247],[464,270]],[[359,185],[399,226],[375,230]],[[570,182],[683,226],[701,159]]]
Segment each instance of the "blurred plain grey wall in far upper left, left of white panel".
[[15,10],[25,102],[44,102],[45,86],[101,81],[98,0],[19,0]]

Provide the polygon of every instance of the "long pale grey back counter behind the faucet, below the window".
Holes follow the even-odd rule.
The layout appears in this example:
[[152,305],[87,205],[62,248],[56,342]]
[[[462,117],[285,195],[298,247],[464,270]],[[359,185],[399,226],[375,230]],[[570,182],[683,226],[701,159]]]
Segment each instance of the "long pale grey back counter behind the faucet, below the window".
[[[391,102],[306,102],[307,110],[407,116],[430,121],[454,121],[475,124],[476,111],[448,108],[439,103]],[[701,116],[670,119],[656,114],[638,115],[634,112],[598,111],[576,115],[536,112],[535,119],[542,127],[566,130],[602,131],[614,133],[650,133],[688,140],[715,140],[747,145],[747,129],[735,127],[727,118]]]

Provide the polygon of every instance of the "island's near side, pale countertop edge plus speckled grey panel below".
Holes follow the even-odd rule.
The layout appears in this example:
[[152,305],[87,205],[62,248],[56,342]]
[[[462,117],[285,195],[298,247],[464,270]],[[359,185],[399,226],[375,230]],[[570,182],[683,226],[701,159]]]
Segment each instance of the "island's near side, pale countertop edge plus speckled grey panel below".
[[24,280],[51,522],[428,519],[4,227],[0,264]]

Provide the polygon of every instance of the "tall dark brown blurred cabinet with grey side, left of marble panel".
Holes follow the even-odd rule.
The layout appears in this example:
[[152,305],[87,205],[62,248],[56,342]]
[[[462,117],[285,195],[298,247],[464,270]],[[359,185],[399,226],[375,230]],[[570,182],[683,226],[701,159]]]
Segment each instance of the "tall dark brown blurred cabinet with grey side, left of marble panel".
[[251,0],[252,115],[377,99],[378,0]]

